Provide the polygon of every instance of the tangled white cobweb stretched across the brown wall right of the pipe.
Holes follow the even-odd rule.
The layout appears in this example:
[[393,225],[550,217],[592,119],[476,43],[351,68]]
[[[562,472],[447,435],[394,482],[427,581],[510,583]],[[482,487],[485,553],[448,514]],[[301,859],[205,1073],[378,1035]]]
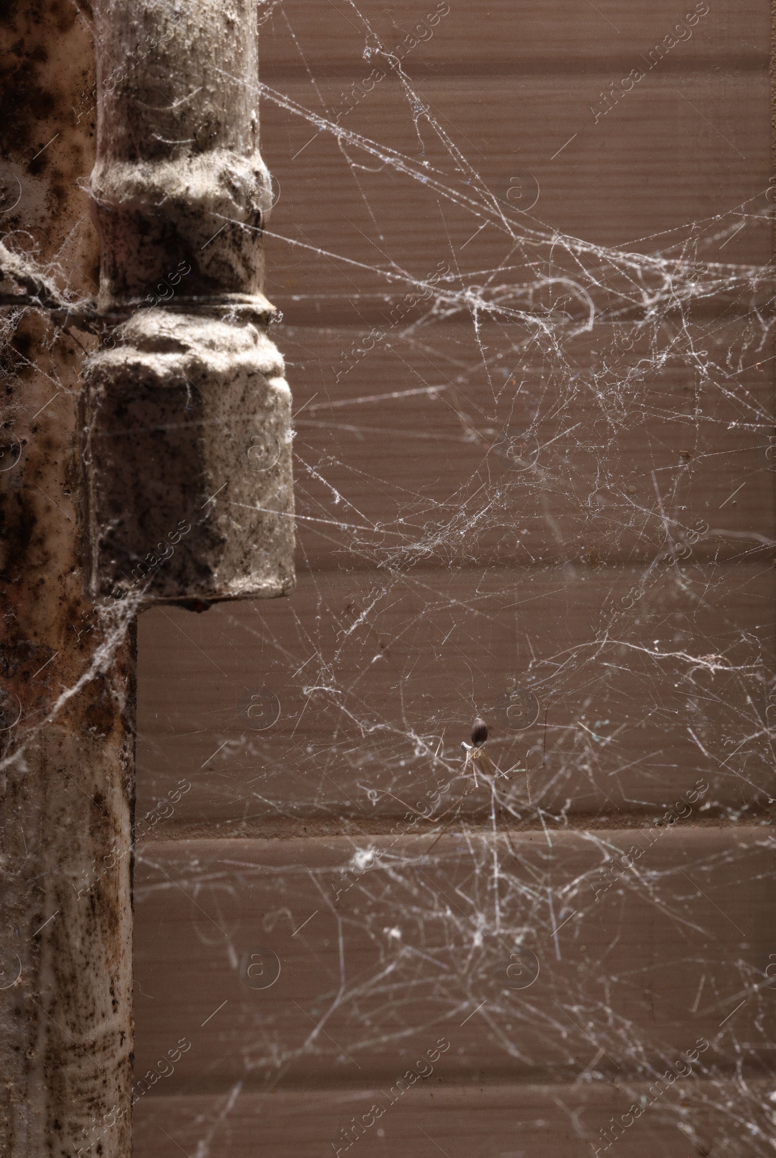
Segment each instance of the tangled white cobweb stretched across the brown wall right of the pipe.
[[[773,269],[720,261],[742,228],[768,251],[770,190],[628,244],[569,236],[530,174],[483,176],[411,59],[349,14],[413,147],[372,139],[367,112],[363,132],[337,119],[312,73],[309,107],[256,91],[263,118],[336,142],[373,222],[371,259],[283,229],[281,181],[265,229],[270,271],[297,271],[273,337],[297,409],[298,591],[148,614],[176,645],[160,670],[178,672],[178,701],[140,720],[154,835],[320,841],[306,860],[280,840],[138,849],[141,944],[147,908],[183,889],[199,915],[181,953],[206,951],[243,995],[212,1060],[200,1042],[199,1070],[230,1085],[189,1152],[215,1152],[241,1083],[353,1083],[352,1060],[388,1082],[444,1036],[434,1072],[556,1084],[580,1153],[616,1144],[578,1112],[600,1085],[696,1152],[773,1153]],[[299,43],[278,0],[262,20]],[[423,269],[385,239],[386,182],[437,222]],[[464,264],[462,222],[498,235],[498,262],[468,259],[473,242]],[[294,324],[316,302],[344,325]],[[479,765],[461,749],[475,714]],[[313,909],[331,944],[301,928]],[[259,1016],[255,945],[278,961],[268,992],[286,995],[294,953],[317,962],[314,991]],[[144,968],[158,1009],[166,983]],[[162,1039],[137,1001],[151,1058]]]

